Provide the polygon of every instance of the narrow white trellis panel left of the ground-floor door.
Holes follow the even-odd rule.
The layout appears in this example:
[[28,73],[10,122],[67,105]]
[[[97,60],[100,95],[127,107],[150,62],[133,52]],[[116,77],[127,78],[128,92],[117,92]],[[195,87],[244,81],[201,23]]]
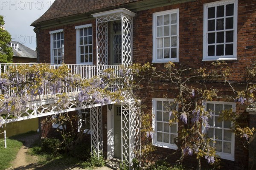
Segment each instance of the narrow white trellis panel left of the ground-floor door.
[[103,151],[102,140],[102,107],[90,109],[90,129],[91,129],[91,151],[99,156]]

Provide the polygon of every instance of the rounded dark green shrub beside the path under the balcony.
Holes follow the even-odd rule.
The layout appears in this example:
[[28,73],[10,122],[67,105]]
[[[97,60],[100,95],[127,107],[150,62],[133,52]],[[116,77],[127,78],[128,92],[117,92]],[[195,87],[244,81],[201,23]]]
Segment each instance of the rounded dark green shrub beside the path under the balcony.
[[44,138],[41,142],[42,152],[58,155],[63,151],[61,141],[57,138]]

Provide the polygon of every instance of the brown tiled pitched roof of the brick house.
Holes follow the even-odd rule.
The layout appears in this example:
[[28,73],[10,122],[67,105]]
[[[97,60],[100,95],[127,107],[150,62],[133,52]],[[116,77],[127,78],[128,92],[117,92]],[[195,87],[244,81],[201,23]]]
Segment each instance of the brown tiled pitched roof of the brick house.
[[52,6],[31,25],[74,14],[88,13],[111,6],[120,6],[139,0],[55,0]]

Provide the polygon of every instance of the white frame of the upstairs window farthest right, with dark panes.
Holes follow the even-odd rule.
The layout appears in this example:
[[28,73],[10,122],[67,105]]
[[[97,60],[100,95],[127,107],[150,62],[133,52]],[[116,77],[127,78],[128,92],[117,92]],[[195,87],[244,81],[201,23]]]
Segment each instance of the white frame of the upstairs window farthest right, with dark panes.
[[[223,55],[223,56],[208,56],[208,31],[207,31],[207,19],[208,19],[208,8],[211,7],[217,7],[217,6],[223,6],[223,5],[228,5],[228,4],[232,4],[234,3],[234,15],[233,15],[233,29],[229,29],[230,31],[233,30],[233,55]],[[226,8],[224,9],[224,13],[226,11]],[[203,61],[215,61],[215,60],[236,60],[237,59],[237,14],[238,14],[238,0],[221,0],[221,1],[217,1],[217,2],[211,2],[211,3],[206,3],[204,4],[204,36],[203,36]],[[225,18],[225,16],[223,17]],[[216,16],[215,16],[215,20],[216,20]],[[215,22],[215,27],[216,27],[216,22]],[[225,27],[225,26],[224,26]],[[224,28],[224,31],[226,30],[226,28]],[[223,30],[221,30],[223,31]],[[209,32],[218,32],[218,31],[209,31]],[[218,44],[216,42],[217,37],[215,36],[215,43],[213,45],[215,45],[215,53],[216,53],[216,44]],[[225,39],[225,36],[224,36]],[[220,43],[220,44],[225,44],[224,43]],[[224,49],[225,51],[225,49]]]

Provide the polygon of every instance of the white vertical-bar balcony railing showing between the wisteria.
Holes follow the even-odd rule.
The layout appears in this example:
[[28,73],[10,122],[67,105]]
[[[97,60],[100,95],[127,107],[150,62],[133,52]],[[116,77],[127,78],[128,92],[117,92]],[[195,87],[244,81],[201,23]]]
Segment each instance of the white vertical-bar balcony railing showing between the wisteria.
[[[0,63],[0,74],[6,73],[6,71],[8,71],[9,68],[17,67],[20,65],[29,65],[31,67],[32,65],[35,65],[35,64],[34,63],[28,63],[28,64]],[[61,64],[47,64],[47,65],[51,69],[58,69],[61,66]],[[97,76],[99,73],[102,73],[105,69],[108,69],[108,68],[113,68],[114,73],[116,75],[118,75],[118,72],[119,72],[119,65],[76,65],[76,64],[66,64],[66,65],[70,69],[71,74],[78,74],[81,76],[82,79],[91,79],[92,77]],[[48,82],[44,85],[44,94],[33,96],[33,98],[31,98],[30,101],[32,102],[32,101],[38,101],[38,100],[54,99],[55,96],[58,95],[58,93],[52,94],[52,92],[50,91],[50,83],[51,82]],[[62,83],[60,91],[61,93],[66,93],[69,97],[74,97],[79,93],[80,88],[79,87],[71,88],[67,84]],[[0,94],[11,95],[12,93],[13,91],[11,90],[10,87],[8,90],[0,89]]]

